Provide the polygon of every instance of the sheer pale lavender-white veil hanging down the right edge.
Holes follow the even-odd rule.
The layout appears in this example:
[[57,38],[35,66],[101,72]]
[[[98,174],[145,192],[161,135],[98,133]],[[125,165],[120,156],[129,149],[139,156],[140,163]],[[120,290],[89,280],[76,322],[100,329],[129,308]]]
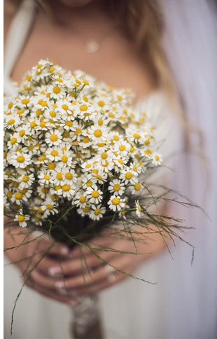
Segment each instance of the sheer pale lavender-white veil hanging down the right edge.
[[[188,264],[185,246],[175,251],[168,282],[168,338],[217,338],[217,4],[162,0],[162,5],[167,24],[165,50],[188,121],[202,132],[204,147],[204,164],[193,154],[176,162],[182,179],[174,176],[173,186],[209,214],[208,219],[197,210],[184,212],[188,224],[195,227],[188,235],[195,244],[195,261],[192,267]],[[201,148],[197,135],[191,142],[193,151]]]

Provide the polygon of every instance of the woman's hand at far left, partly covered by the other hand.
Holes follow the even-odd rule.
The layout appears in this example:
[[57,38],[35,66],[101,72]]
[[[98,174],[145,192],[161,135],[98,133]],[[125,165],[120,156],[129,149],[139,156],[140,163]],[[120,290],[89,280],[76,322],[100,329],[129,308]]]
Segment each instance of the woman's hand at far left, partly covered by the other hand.
[[[44,296],[63,303],[69,305],[78,303],[72,296],[63,296],[56,289],[52,289],[51,286],[45,288],[43,284],[37,282],[37,279],[34,279],[41,272],[37,266],[38,263],[41,265],[44,261],[45,265],[52,266],[57,265],[58,260],[64,261],[67,258],[69,249],[64,244],[52,244],[50,240],[45,240],[37,235],[28,235],[26,229],[13,226],[4,230],[4,250],[9,260],[22,272],[22,278],[27,286]],[[36,267],[34,268],[34,266]],[[48,272],[43,272],[43,276],[46,279]]]

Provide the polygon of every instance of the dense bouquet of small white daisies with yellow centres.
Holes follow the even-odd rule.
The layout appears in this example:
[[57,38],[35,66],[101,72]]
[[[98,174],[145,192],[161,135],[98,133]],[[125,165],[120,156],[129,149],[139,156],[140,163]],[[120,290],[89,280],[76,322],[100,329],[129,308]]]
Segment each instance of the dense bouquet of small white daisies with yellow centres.
[[38,62],[6,98],[5,213],[71,246],[113,221],[137,223],[146,213],[139,196],[148,193],[141,174],[162,158],[132,98],[82,71]]

